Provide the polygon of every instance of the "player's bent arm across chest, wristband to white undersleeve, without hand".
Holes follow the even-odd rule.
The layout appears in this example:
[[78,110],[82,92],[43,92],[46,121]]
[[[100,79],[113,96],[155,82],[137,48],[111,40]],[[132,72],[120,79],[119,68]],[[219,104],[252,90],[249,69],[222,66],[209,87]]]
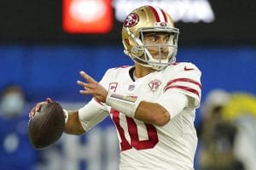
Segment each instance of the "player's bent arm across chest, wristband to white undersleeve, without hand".
[[[166,92],[153,102],[141,100],[139,96],[134,98],[109,92],[106,104],[126,116],[157,126],[164,126],[172,116],[177,115],[188,105],[188,101],[185,94],[172,91]],[[168,103],[168,107],[163,106],[166,103]]]

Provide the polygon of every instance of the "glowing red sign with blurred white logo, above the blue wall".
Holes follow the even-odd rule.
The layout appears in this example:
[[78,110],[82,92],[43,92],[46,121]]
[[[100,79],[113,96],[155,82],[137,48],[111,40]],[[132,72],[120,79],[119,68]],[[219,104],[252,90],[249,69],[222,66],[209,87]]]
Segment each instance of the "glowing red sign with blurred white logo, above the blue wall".
[[62,27],[68,33],[108,33],[113,27],[111,0],[63,0]]

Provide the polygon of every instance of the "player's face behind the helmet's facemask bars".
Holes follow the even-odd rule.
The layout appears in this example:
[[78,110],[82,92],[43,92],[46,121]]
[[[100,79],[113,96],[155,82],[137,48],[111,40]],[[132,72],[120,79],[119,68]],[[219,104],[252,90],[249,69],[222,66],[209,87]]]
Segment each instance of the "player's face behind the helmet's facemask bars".
[[145,32],[143,36],[144,45],[154,59],[166,59],[170,53],[167,45],[172,45],[173,35],[167,32]]

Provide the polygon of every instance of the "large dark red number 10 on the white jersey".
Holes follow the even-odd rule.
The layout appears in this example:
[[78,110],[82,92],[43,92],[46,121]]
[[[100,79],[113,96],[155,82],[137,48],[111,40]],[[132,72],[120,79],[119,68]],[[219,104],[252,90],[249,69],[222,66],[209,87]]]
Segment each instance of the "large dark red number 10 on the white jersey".
[[130,150],[132,147],[137,150],[147,150],[150,148],[154,148],[155,144],[158,143],[157,132],[153,125],[145,123],[147,132],[148,132],[148,139],[147,140],[139,140],[136,122],[134,122],[134,120],[131,117],[126,116],[128,133],[131,138],[131,144],[130,144],[127,141],[127,139],[125,139],[124,128],[120,126],[120,121],[119,121],[120,112],[115,111],[113,109],[111,109],[110,112],[113,114],[113,122],[119,132],[121,151]]

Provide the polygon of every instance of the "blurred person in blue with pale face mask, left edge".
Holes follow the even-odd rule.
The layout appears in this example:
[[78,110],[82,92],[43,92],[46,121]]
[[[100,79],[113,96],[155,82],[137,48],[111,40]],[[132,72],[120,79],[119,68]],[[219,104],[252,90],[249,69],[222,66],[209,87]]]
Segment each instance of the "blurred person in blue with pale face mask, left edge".
[[34,169],[36,150],[27,137],[27,105],[20,86],[3,89],[0,99],[0,169]]

